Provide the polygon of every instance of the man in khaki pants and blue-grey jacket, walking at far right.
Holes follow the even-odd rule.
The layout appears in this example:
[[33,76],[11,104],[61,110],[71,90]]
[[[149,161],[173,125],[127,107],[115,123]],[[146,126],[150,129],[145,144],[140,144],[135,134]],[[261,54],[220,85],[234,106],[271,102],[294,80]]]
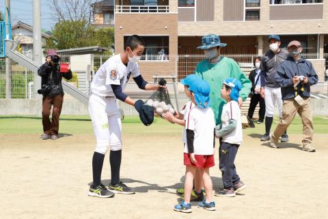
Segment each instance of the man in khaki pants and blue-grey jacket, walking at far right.
[[271,146],[277,148],[278,138],[282,136],[292,123],[295,115],[301,116],[303,123],[303,151],[314,152],[311,145],[313,139],[312,110],[310,104],[310,86],[318,82],[318,75],[312,63],[300,57],[301,43],[293,40],[288,44],[289,56],[275,75],[275,81],[282,88],[282,120],[275,131],[270,133]]

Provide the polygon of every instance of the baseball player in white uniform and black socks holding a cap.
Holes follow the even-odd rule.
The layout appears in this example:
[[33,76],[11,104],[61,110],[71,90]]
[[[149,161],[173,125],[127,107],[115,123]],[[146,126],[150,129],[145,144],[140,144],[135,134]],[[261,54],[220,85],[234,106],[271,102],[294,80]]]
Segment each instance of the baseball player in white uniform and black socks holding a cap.
[[[122,126],[116,99],[133,106],[138,102],[133,101],[123,92],[130,77],[140,89],[157,90],[159,87],[166,89],[166,86],[147,83],[141,77],[137,61],[140,60],[145,45],[139,36],[130,36],[124,45],[124,52],[110,57],[100,66],[92,80],[89,112],[96,137],[96,148],[92,157],[93,183],[88,192],[90,196],[107,198],[114,196],[114,193],[135,193],[120,181]],[[111,183],[107,187],[101,183],[100,179],[102,164],[108,149],[111,151],[109,155]]]

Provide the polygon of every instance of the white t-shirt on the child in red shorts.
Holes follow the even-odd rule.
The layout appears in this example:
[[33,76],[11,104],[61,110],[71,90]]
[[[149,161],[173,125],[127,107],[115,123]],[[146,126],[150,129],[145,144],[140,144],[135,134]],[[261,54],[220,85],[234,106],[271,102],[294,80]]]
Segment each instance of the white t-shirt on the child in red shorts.
[[[215,118],[210,107],[195,106],[189,111],[185,129],[193,130],[193,152],[195,155],[213,155]],[[188,153],[187,141],[184,145],[184,153]]]

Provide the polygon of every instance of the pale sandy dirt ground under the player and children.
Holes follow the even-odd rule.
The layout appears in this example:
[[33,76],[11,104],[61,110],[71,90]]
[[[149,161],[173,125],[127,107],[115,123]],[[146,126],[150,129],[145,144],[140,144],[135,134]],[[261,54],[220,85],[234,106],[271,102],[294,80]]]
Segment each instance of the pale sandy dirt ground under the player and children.
[[[327,218],[327,135],[314,138],[316,153],[301,151],[301,135],[271,149],[260,135],[244,135],[236,167],[247,189],[234,198],[215,197],[216,211],[193,203],[192,214],[173,210],[184,166],[180,136],[123,136],[121,179],[137,191],[114,198],[87,196],[92,182],[94,138],[1,134],[0,218]],[[102,171],[108,184],[108,154]],[[218,164],[217,154],[215,155]],[[221,173],[211,169],[214,190]]]

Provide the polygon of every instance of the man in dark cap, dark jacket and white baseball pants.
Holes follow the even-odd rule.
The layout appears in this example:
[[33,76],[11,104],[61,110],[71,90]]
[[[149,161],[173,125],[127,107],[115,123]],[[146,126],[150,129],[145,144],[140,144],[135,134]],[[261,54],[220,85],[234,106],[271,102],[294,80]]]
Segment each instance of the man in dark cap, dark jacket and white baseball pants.
[[[269,36],[269,47],[262,56],[261,69],[261,96],[265,101],[265,133],[261,141],[270,140],[269,133],[273,123],[273,114],[275,112],[275,105],[279,110],[279,118],[282,118],[282,91],[279,83],[275,81],[277,68],[284,62],[288,56],[286,49],[280,49],[280,37],[275,34]],[[288,142],[288,136],[285,132],[282,135],[282,142]]]

